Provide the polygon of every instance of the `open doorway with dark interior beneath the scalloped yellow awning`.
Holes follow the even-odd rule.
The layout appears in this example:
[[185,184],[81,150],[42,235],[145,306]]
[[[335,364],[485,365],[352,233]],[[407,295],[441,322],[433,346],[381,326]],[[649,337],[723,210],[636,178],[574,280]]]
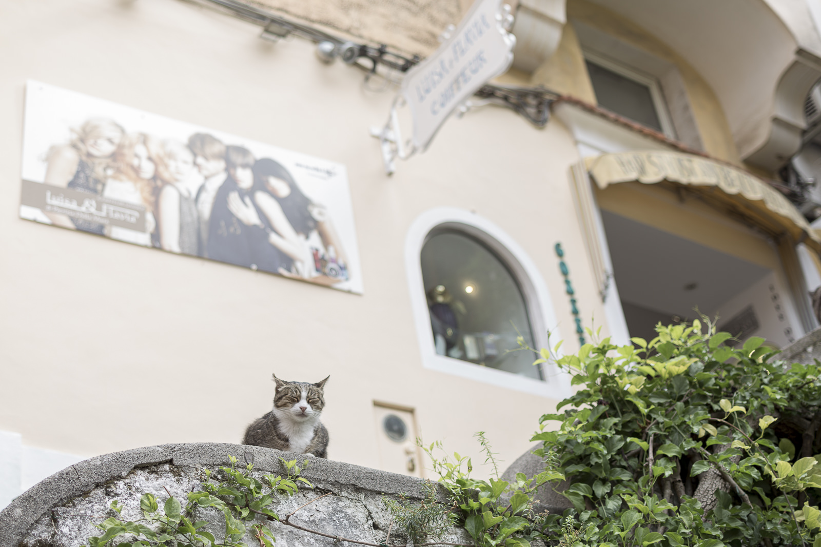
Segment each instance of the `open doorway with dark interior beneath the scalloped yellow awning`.
[[795,340],[773,269],[614,212],[601,215],[631,336],[650,340],[659,321],[692,320],[697,307],[741,340],[758,335],[777,347]]

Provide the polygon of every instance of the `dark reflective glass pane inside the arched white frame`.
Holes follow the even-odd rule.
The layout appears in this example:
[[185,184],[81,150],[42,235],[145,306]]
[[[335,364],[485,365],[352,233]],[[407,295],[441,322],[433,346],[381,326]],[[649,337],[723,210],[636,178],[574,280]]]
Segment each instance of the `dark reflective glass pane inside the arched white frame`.
[[510,351],[520,334],[533,347],[533,333],[519,285],[496,255],[470,236],[440,231],[421,263],[436,353],[542,379],[533,353]]

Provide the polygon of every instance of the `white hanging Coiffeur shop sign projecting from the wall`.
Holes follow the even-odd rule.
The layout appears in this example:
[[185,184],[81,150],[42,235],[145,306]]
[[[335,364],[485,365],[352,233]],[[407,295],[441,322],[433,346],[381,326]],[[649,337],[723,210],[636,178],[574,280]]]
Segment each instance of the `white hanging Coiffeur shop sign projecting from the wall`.
[[[436,52],[406,73],[388,124],[373,131],[383,143],[388,174],[394,171],[395,157],[406,159],[424,152],[456,107],[507,71],[516,45],[516,37],[507,32],[512,24],[509,11],[502,0],[478,0]],[[401,107],[410,109],[412,119],[407,142],[402,141],[399,128]]]

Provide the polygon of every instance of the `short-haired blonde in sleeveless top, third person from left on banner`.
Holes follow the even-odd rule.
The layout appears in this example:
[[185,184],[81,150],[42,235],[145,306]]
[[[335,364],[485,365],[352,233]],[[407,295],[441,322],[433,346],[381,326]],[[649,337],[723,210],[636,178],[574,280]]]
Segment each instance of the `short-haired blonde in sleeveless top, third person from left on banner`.
[[167,174],[158,198],[160,246],[172,253],[199,255],[200,217],[190,182],[194,153],[186,144],[168,139],[163,141],[163,156]]

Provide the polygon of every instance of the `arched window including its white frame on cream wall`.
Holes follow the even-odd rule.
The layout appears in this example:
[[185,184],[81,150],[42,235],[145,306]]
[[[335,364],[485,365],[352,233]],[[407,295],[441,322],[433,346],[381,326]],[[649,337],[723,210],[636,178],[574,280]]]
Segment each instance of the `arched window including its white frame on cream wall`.
[[544,397],[571,393],[553,363],[534,367],[534,353],[507,351],[520,334],[536,349],[562,340],[541,271],[515,239],[473,212],[437,207],[411,224],[405,261],[425,368]]

